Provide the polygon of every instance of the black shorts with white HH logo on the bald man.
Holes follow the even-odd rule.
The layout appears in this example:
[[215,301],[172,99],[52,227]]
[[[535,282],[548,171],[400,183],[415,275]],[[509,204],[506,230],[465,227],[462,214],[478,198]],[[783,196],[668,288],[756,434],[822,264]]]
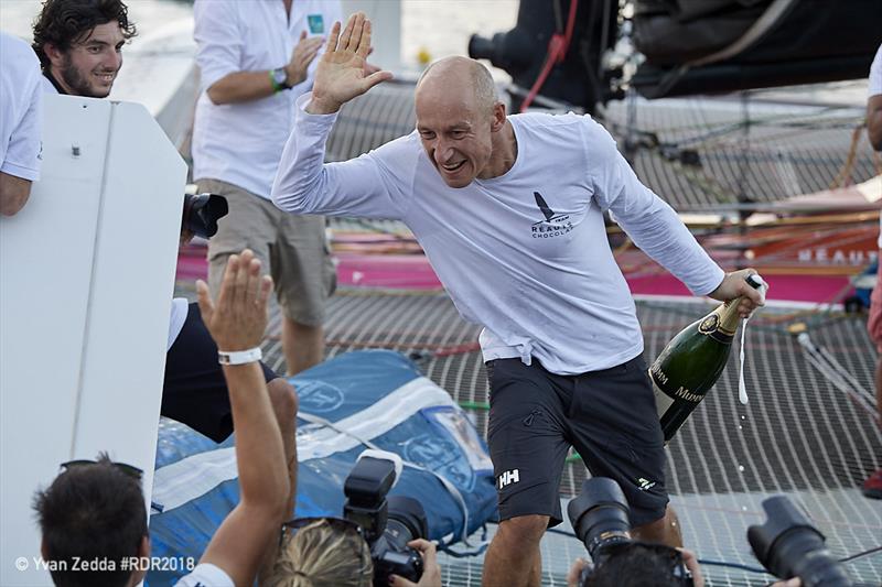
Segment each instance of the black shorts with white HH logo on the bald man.
[[665,439],[643,357],[602,371],[557,376],[534,359],[487,362],[490,445],[499,519],[561,522],[559,487],[570,445],[594,477],[622,487],[632,525],[665,515]]

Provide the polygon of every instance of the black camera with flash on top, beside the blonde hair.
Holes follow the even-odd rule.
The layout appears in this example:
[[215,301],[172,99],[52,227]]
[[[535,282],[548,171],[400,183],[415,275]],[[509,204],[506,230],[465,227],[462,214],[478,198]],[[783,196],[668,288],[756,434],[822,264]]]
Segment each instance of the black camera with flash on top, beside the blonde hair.
[[422,576],[422,556],[407,543],[429,535],[426,512],[415,499],[386,497],[397,472],[395,460],[363,455],[343,483],[343,515],[358,524],[370,546],[376,587],[388,586],[389,575],[413,583]]

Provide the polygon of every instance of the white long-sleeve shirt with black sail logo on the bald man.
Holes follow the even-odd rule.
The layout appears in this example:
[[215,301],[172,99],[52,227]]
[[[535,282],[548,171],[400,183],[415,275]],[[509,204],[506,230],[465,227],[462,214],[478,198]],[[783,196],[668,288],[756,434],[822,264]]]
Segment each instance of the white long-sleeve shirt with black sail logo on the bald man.
[[609,209],[634,242],[696,294],[723,271],[674,210],[637,180],[590,117],[508,117],[508,172],[451,188],[416,131],[343,163],[323,164],[335,115],[298,118],[272,199],[297,214],[404,221],[463,318],[484,327],[485,360],[531,358],[558,374],[607,369],[643,351],[627,283],[606,240]]

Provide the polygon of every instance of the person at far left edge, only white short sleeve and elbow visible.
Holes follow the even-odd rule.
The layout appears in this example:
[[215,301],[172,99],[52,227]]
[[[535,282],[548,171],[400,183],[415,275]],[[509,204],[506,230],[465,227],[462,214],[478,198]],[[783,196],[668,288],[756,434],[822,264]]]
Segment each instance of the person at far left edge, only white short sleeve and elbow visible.
[[40,62],[24,41],[0,33],[0,214],[12,216],[40,178]]

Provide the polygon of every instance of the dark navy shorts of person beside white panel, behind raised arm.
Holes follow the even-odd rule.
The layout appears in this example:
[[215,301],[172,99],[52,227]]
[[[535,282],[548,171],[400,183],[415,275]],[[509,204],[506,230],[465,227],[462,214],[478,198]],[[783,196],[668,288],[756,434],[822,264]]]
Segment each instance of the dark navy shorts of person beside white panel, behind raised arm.
[[[262,361],[260,367],[267,382],[279,377]],[[224,371],[217,362],[217,345],[202,322],[197,304],[190,304],[181,334],[165,354],[160,413],[216,443],[233,433],[233,411]]]

